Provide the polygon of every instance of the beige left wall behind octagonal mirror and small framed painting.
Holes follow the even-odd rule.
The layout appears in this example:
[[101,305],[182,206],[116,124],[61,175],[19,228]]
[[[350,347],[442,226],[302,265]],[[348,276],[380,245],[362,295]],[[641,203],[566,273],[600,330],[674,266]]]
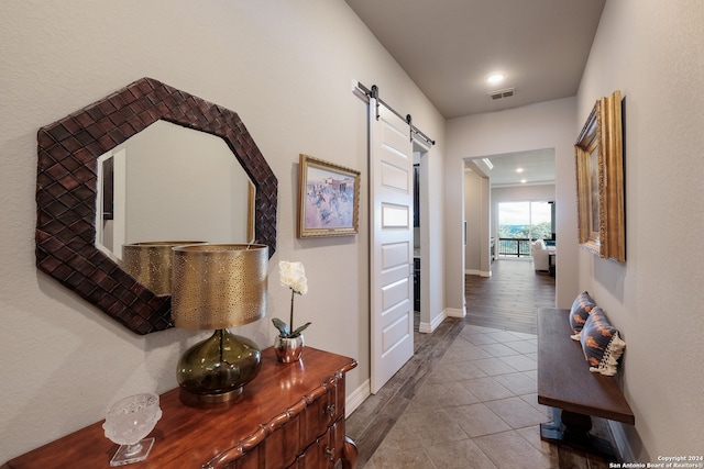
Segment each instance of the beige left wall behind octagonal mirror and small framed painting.
[[[273,342],[271,317],[288,308],[276,264],[302,261],[309,292],[297,315],[314,323],[310,346],[359,360],[349,391],[369,379],[366,105],[353,79],[378,85],[438,141],[428,203],[441,203],[444,122],[344,2],[2,2],[0,462],[100,420],[118,398],[174,388],[179,353],[202,337],[136,336],[34,265],[36,131],[144,76],[238,112],[278,178],[268,316],[238,333]],[[296,238],[299,153],[362,171],[359,235]],[[441,270],[439,230],[428,233],[431,273]]]

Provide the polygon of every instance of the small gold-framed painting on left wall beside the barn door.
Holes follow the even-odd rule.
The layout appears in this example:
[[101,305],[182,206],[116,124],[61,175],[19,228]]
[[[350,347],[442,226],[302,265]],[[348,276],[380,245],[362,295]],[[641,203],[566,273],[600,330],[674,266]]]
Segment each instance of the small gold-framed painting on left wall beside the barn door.
[[354,235],[359,214],[360,171],[301,154],[298,237]]

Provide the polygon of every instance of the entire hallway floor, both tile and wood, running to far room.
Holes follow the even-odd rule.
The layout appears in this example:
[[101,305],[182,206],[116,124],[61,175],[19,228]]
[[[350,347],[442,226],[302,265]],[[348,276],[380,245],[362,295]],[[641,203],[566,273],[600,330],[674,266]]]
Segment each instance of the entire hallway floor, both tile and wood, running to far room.
[[554,304],[554,279],[534,272],[528,261],[494,267],[491,278],[468,276],[472,314],[447,319],[433,334],[416,333],[415,356],[349,416],[359,467],[608,466],[540,440],[539,424],[549,418],[537,402],[537,337],[530,332],[536,310]]

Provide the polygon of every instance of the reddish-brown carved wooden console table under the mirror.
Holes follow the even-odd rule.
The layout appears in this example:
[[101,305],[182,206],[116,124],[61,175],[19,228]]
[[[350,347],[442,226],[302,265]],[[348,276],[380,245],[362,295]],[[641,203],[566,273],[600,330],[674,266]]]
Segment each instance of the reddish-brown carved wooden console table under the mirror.
[[[356,361],[307,347],[296,364],[262,351],[262,369],[230,403],[207,409],[179,389],[161,395],[163,416],[148,458],[125,468],[323,469],[356,466],[344,432],[344,373]],[[107,403],[106,403],[107,406]],[[2,469],[109,468],[118,445],[102,421],[19,456]]]

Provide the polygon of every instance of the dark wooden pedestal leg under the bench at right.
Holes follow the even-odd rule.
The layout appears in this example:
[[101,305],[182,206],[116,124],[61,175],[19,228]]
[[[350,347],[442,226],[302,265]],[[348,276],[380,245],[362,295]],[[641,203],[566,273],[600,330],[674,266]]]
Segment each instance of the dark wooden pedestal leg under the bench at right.
[[552,422],[540,424],[540,439],[616,460],[612,444],[590,433],[592,417],[552,409]]

